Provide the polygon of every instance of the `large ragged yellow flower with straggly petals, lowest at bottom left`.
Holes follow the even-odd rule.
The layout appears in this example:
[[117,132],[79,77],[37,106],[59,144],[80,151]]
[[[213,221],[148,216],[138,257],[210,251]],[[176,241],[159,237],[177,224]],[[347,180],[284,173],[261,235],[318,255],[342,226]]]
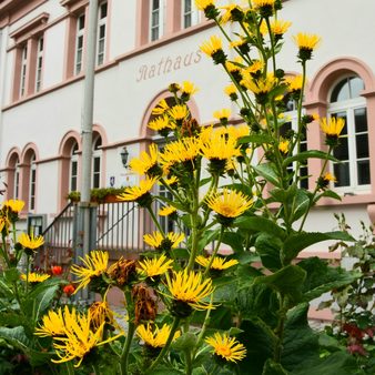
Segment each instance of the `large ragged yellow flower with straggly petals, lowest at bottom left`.
[[52,359],[53,363],[64,363],[78,361],[74,367],[79,367],[83,358],[95,347],[109,343],[119,336],[112,336],[107,341],[102,341],[103,327],[105,322],[97,330],[92,330],[92,318],[90,312],[78,314],[75,321],[71,321],[68,326],[65,322],[65,337],[53,337],[53,347],[60,359]]

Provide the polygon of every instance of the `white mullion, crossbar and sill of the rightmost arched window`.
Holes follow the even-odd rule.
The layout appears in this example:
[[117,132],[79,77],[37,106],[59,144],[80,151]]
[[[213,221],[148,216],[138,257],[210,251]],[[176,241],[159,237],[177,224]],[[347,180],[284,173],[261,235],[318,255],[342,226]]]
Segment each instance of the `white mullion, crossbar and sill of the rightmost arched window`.
[[[365,192],[371,191],[371,184],[359,185],[357,182],[358,175],[357,175],[356,163],[358,160],[356,158],[354,112],[355,110],[363,109],[363,108],[367,110],[365,98],[349,99],[349,100],[345,100],[345,101],[341,101],[336,103],[330,103],[328,105],[328,110],[327,110],[328,118],[335,113],[339,113],[339,112],[346,113],[346,129],[347,129],[347,139],[348,139],[347,146],[348,146],[348,164],[349,164],[349,185],[348,186],[334,186],[334,184],[332,184],[332,189],[334,189],[337,193],[341,193],[341,194],[347,194],[347,193],[351,194],[353,192],[365,193]],[[368,122],[367,122],[367,134],[368,134]],[[369,144],[368,144],[368,148],[369,148]],[[368,156],[368,160],[369,160],[369,156]],[[334,163],[331,162],[330,169],[332,173],[334,174],[333,165]]]

